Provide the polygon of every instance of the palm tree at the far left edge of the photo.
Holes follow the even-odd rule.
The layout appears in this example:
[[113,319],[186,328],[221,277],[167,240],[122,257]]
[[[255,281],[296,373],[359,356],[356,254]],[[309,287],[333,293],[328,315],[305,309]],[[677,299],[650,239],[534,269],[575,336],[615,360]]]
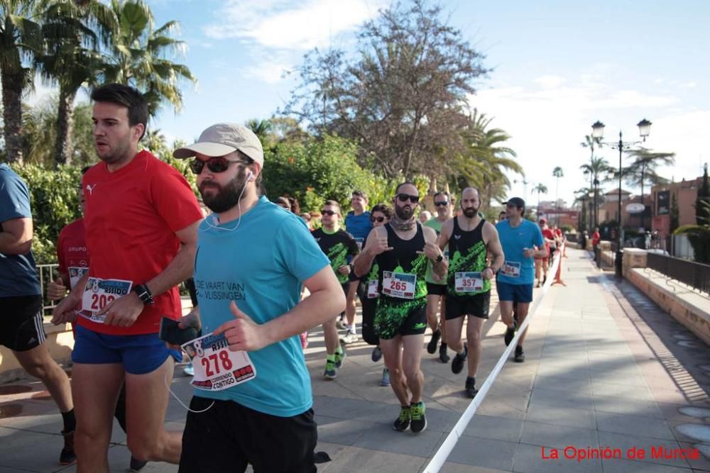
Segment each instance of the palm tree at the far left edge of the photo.
[[34,77],[26,65],[42,50],[36,6],[33,0],[0,0],[0,76],[9,162],[22,161],[22,94],[32,87]]

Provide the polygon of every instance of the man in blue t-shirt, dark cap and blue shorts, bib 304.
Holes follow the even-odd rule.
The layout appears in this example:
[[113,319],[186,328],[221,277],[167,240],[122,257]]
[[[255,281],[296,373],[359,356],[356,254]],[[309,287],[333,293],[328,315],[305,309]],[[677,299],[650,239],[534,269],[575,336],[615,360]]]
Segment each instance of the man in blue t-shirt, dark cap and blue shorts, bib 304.
[[[532,302],[532,283],[535,280],[534,258],[544,257],[547,255],[547,250],[545,250],[540,227],[523,218],[525,213],[523,199],[513,197],[508,200],[506,211],[508,218],[496,225],[503,253],[506,255],[506,261],[503,262],[496,277],[496,287],[501,304],[501,318],[503,323],[508,325],[504,340],[506,345],[510,345],[518,325],[528,316],[528,308]],[[517,321],[513,318],[513,304],[517,304]],[[518,363],[525,361],[523,341],[527,331],[520,335],[518,345],[515,347],[514,360]]]

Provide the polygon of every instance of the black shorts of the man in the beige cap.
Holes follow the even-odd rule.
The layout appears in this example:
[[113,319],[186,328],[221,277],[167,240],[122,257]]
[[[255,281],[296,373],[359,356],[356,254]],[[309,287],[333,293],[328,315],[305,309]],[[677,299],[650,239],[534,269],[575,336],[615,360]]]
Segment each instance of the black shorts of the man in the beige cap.
[[[288,393],[285,393],[288,395]],[[214,405],[209,407],[214,401]],[[182,433],[180,473],[316,472],[318,430],[313,410],[270,416],[237,404],[193,396]]]

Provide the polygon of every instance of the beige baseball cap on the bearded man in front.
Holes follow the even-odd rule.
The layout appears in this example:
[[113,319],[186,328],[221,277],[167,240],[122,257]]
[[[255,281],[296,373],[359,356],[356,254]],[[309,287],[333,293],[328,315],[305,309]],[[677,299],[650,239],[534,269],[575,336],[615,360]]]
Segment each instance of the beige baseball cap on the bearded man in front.
[[204,130],[197,143],[183,146],[173,151],[173,156],[180,160],[193,157],[195,153],[216,157],[228,155],[239,150],[263,167],[264,151],[261,141],[253,131],[237,123],[217,123]]

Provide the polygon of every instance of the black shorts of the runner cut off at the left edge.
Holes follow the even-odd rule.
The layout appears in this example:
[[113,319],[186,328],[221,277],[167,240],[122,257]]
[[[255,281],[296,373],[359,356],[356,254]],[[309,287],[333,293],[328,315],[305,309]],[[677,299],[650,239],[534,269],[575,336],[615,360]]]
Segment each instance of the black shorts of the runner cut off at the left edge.
[[26,352],[47,338],[40,295],[0,297],[0,321],[0,345],[10,350]]

